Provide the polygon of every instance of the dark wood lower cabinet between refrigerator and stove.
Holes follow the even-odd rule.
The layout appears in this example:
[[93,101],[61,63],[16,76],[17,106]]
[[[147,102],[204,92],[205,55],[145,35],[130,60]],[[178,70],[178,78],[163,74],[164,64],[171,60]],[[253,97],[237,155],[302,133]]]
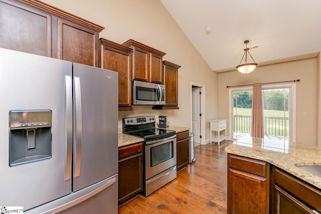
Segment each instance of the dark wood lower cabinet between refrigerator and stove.
[[118,148],[118,204],[142,191],[142,143]]

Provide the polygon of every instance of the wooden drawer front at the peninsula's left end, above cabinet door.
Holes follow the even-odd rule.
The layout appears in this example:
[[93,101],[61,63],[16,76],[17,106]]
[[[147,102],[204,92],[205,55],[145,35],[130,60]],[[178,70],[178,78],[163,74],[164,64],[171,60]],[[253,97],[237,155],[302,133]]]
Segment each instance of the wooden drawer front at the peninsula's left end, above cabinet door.
[[267,163],[237,155],[229,155],[229,167],[266,177]]

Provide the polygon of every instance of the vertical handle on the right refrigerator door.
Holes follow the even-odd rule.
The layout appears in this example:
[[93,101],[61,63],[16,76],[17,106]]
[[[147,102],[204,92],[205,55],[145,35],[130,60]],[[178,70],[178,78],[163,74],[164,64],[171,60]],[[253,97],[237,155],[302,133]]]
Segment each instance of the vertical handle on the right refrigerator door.
[[80,176],[81,167],[81,135],[82,135],[82,115],[81,115],[81,87],[80,78],[75,77],[75,104],[76,104],[76,140],[75,140],[75,177]]

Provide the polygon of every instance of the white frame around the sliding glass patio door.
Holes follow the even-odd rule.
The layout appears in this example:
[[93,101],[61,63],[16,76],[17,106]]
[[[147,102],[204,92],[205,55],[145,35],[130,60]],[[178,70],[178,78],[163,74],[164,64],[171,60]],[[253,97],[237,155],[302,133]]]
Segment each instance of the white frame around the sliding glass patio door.
[[[290,88],[290,103],[289,106],[289,116],[290,123],[289,123],[289,141],[295,142],[296,140],[296,84],[295,83],[284,83],[284,84],[269,84],[269,85],[262,85],[262,89],[269,89],[269,88]],[[237,87],[237,88],[229,88],[229,119],[231,124],[229,125],[229,135],[230,139],[233,139],[233,91],[246,91],[246,90],[253,90],[253,87]]]

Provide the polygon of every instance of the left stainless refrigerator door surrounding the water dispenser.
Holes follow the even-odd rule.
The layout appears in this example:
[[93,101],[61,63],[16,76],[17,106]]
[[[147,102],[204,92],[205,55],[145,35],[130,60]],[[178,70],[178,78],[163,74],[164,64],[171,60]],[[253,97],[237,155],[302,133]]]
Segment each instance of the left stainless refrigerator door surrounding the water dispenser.
[[[67,155],[67,103],[71,102],[66,100],[66,91],[72,92],[71,75],[70,62],[0,49],[1,205],[24,206],[24,210],[28,210],[71,193],[72,150],[69,157]],[[49,132],[51,158],[28,162],[33,158],[30,156],[26,158],[26,164],[21,161],[20,165],[9,165],[9,113],[12,110],[52,112],[51,134]],[[42,135],[42,128],[29,131],[33,137],[26,136],[26,129],[21,129],[21,134],[15,138],[17,141],[21,138],[17,147],[21,146],[28,152],[41,149],[44,142],[38,136]],[[72,119],[69,130],[72,130]],[[45,148],[50,149],[48,146]]]

